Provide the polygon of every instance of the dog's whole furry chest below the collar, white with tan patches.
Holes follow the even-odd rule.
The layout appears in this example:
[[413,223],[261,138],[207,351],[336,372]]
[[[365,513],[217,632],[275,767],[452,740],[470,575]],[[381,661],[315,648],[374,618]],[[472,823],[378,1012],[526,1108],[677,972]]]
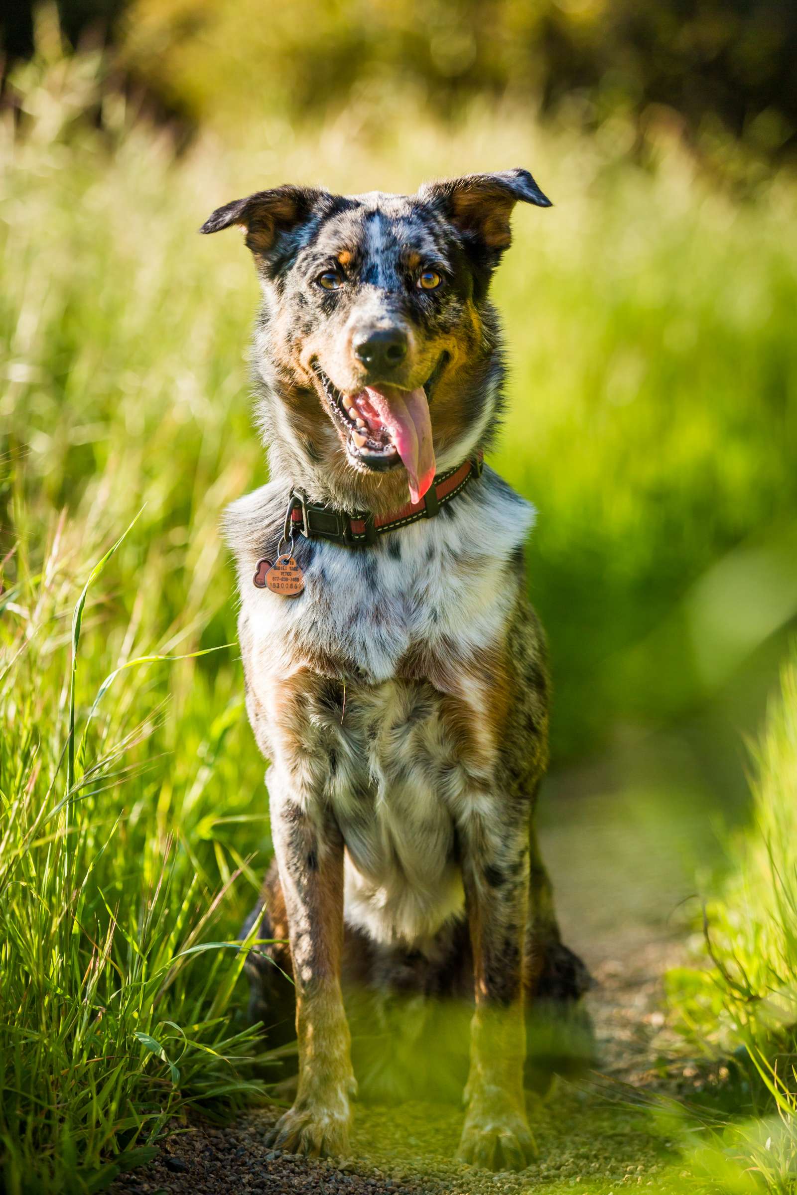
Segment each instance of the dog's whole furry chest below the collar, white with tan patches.
[[485,694],[533,511],[485,470],[436,519],[372,549],[301,543],[305,590],[287,599],[252,584],[286,502],[272,483],[228,516],[271,801],[284,779],[292,799],[330,809],[347,846],[348,921],[417,944],[461,908],[456,825],[493,780]]

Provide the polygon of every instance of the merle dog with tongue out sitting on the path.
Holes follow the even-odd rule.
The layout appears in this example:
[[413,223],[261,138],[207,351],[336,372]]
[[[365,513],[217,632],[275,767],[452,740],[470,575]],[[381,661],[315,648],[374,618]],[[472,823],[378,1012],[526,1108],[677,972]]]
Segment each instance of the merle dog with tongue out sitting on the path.
[[244,931],[270,944],[247,967],[259,1019],[295,1011],[296,1098],[271,1136],[295,1153],[347,1153],[356,982],[470,991],[459,1157],[525,1168],[527,1025],[589,983],[532,822],[548,722],[534,511],[484,465],[504,381],[489,290],[517,203],[551,206],[525,170],[410,196],[284,185],[201,229],[239,226],[263,292],[270,480],[226,529],[275,850]]

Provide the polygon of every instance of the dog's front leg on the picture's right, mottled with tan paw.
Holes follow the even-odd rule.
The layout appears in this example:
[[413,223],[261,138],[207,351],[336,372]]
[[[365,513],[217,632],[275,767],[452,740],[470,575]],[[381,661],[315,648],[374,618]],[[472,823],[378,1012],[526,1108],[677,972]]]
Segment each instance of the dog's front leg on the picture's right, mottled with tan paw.
[[528,906],[528,822],[473,815],[462,834],[462,880],[473,944],[467,1113],[459,1158],[522,1170],[537,1150],[523,1096],[523,939]]

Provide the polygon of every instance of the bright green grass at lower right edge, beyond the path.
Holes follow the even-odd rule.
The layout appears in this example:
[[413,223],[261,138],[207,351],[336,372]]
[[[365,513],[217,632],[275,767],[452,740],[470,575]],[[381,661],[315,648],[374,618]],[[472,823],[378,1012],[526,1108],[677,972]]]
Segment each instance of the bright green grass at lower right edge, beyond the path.
[[[669,976],[689,1046],[724,1064],[718,1150],[766,1189],[797,1190],[797,649],[755,752],[753,817],[706,902],[703,969]],[[729,1091],[730,1089],[730,1091]]]

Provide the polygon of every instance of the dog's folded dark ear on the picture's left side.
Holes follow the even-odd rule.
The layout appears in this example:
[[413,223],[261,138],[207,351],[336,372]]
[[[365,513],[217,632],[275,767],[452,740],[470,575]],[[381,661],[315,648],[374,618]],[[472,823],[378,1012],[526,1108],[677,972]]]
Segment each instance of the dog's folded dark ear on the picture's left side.
[[300,228],[314,208],[330,198],[326,191],[290,184],[275,186],[270,191],[256,191],[245,200],[233,200],[232,203],[216,208],[200,232],[220,232],[231,225],[238,225],[246,232],[246,246],[256,261],[268,265],[284,237]]

